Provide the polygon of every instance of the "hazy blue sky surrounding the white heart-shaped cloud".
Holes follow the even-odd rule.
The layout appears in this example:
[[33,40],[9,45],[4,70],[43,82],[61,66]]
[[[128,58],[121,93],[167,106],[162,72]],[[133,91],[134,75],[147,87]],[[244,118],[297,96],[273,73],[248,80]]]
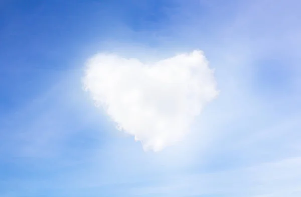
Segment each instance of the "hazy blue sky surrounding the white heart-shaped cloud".
[[[298,0],[0,1],[0,196],[301,195]],[[216,99],[161,151],[83,90],[88,58],[203,50]]]

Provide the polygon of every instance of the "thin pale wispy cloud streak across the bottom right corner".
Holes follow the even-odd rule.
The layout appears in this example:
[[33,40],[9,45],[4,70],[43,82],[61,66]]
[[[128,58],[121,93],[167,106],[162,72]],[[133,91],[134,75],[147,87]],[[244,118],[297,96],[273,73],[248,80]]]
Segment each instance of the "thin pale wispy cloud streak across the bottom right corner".
[[175,175],[160,186],[137,187],[141,196],[299,196],[300,157],[214,173]]

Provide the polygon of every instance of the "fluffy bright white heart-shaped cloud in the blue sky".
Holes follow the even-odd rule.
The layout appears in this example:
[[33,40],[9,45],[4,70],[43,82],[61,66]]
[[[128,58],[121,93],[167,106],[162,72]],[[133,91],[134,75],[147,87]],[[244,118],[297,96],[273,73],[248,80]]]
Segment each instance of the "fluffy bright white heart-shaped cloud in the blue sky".
[[154,151],[183,139],[194,117],[218,95],[213,70],[199,50],[152,65],[99,53],[87,61],[83,83],[118,129]]

